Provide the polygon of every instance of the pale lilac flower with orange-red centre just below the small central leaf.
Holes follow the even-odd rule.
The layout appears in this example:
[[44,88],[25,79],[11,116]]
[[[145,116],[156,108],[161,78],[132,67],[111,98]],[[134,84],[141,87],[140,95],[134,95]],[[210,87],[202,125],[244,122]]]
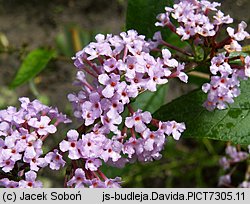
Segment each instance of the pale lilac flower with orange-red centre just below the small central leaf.
[[142,110],[137,110],[137,112],[133,113],[132,117],[127,117],[125,119],[125,125],[128,128],[135,127],[135,131],[138,133],[142,133],[146,130],[146,124],[150,123],[152,120],[152,116],[150,112],[142,112]]

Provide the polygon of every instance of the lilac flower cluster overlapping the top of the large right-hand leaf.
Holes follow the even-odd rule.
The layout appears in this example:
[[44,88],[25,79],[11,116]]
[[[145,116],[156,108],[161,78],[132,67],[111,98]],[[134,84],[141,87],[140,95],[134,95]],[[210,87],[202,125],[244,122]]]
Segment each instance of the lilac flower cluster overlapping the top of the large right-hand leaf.
[[240,94],[240,79],[247,80],[249,77],[246,71],[244,72],[249,66],[247,64],[249,56],[245,58],[243,69],[239,66],[233,69],[229,64],[229,60],[230,58],[223,53],[211,60],[210,71],[213,76],[211,76],[210,83],[205,83],[202,86],[202,90],[208,93],[204,106],[210,111],[215,108],[225,109],[228,104],[233,103],[233,98]]

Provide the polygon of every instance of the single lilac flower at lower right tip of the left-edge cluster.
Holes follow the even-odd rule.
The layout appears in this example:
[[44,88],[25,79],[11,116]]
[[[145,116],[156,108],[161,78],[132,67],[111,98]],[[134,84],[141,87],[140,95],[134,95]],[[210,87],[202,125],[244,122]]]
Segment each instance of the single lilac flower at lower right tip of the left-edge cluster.
[[57,149],[54,149],[53,152],[46,154],[44,159],[52,170],[59,170],[66,163]]

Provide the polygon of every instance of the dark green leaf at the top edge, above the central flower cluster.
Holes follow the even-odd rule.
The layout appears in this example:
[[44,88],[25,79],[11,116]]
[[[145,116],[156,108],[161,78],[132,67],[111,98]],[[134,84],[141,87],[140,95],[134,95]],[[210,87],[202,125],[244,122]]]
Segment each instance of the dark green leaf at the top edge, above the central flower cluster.
[[156,31],[161,30],[163,36],[171,31],[156,27],[156,16],[163,13],[165,6],[172,6],[173,0],[128,0],[126,28],[135,29],[147,38],[152,38]]

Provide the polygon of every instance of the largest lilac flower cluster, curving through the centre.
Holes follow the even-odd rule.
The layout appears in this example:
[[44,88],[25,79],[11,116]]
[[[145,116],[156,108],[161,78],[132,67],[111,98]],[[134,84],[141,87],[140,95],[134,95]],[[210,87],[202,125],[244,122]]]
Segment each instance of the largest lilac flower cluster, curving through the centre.
[[[173,77],[187,82],[184,64],[172,58],[168,49],[155,59],[150,54],[152,43],[144,38],[135,30],[119,36],[99,34],[96,42],[73,58],[78,68],[75,84],[82,89],[68,98],[74,115],[93,128],[80,138],[76,130],[70,130],[60,150],[68,151],[70,159],[83,159],[88,174],[98,170],[101,160],[122,167],[135,159],[160,158],[165,135],[178,140],[185,130],[184,123],[161,122],[147,111],[133,110],[131,99],[142,92],[154,92]],[[126,110],[128,116],[122,118]],[[153,131],[149,125],[158,129]]]

